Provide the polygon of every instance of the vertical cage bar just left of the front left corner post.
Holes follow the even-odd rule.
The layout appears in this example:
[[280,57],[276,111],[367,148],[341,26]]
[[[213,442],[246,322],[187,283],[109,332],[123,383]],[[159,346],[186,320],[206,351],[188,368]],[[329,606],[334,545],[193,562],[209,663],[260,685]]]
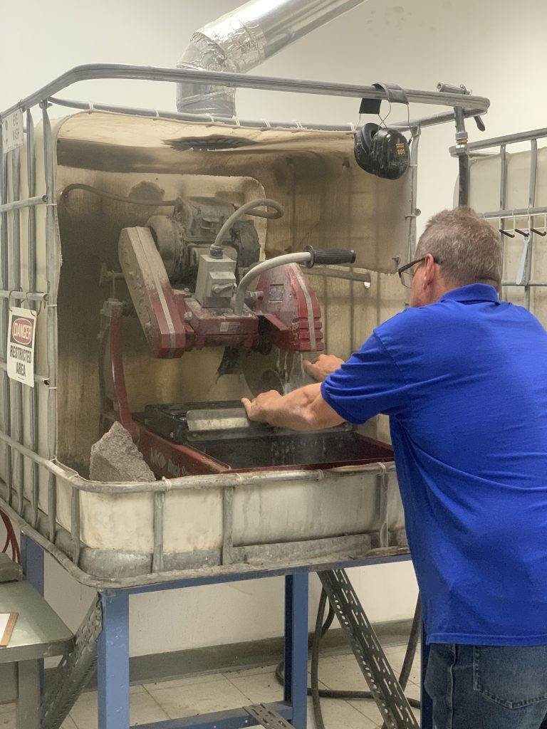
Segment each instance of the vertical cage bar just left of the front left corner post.
[[[28,195],[33,196],[36,192],[36,152],[34,149],[34,120],[30,109],[26,112],[26,165]],[[36,289],[36,209],[34,206],[28,208],[27,241],[28,289],[30,292],[34,292],[34,289]],[[31,301],[31,299],[27,297],[27,301]],[[36,311],[36,307],[34,307],[34,310]],[[37,377],[39,377],[39,375],[34,373],[35,382]],[[31,449],[33,451],[37,451],[38,395],[36,394],[36,388],[31,388],[29,399],[29,405],[31,408]],[[38,522],[39,509],[39,472],[38,465],[34,463],[34,461],[31,461],[31,473],[31,525],[36,526],[36,523]]]

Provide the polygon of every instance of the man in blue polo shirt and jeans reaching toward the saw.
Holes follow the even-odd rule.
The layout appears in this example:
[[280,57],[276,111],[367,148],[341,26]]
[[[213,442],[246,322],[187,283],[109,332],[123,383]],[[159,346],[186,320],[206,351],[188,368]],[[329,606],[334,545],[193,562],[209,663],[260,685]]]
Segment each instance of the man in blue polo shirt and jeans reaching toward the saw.
[[324,381],[243,399],[295,430],[389,416],[430,643],[435,729],[538,729],[547,712],[547,333],[500,302],[498,233],[470,208],[400,269],[410,308]]

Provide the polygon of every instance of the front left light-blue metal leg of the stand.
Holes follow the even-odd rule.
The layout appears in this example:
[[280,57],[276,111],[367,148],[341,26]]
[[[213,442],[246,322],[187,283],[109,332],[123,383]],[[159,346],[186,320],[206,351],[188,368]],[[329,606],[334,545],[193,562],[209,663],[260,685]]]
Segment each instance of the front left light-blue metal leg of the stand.
[[129,596],[101,593],[97,644],[98,729],[129,729]]

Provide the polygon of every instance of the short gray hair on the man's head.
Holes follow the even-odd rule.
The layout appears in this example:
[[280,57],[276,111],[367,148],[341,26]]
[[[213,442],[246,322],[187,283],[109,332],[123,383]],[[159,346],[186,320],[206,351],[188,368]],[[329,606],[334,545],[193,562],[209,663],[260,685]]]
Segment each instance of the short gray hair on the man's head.
[[432,254],[451,286],[493,283],[499,289],[502,274],[500,233],[471,208],[443,210],[434,215],[416,246],[416,258]]

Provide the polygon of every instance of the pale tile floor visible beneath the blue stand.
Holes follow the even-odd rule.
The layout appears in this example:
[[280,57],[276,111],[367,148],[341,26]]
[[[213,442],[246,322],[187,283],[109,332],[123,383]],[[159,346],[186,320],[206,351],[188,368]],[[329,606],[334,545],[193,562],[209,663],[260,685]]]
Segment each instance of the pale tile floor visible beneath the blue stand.
[[[403,665],[405,647],[391,646],[385,652],[398,675]],[[282,698],[282,688],[276,682],[274,669],[275,666],[262,666],[132,686],[131,724],[217,712],[249,703],[279,701]],[[321,658],[319,679],[325,688],[367,688],[353,656],[347,654]],[[419,655],[416,655],[406,693],[413,698],[419,698]],[[308,703],[308,729],[315,729],[311,699]],[[327,729],[376,729],[381,726],[381,715],[373,701],[322,699],[321,706]],[[419,714],[416,709],[414,711],[416,715]],[[0,729],[15,729],[13,705],[0,706]],[[97,729],[95,692],[80,696],[61,729]]]

